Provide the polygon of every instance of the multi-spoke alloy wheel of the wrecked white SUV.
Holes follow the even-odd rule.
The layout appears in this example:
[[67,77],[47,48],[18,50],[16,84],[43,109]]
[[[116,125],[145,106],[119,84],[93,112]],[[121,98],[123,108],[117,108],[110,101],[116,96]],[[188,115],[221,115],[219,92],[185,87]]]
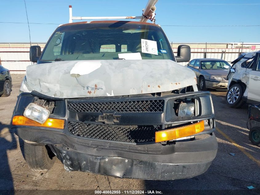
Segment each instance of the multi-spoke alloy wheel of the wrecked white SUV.
[[243,88],[240,84],[234,84],[229,87],[226,93],[226,102],[231,108],[240,108],[244,104]]

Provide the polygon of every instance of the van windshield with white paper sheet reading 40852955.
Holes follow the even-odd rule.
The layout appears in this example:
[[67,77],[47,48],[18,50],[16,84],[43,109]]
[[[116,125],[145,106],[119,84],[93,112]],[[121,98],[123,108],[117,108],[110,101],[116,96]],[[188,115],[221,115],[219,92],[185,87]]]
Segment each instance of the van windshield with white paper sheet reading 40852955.
[[127,22],[60,26],[46,44],[40,60],[101,59],[175,61],[170,43],[159,26]]

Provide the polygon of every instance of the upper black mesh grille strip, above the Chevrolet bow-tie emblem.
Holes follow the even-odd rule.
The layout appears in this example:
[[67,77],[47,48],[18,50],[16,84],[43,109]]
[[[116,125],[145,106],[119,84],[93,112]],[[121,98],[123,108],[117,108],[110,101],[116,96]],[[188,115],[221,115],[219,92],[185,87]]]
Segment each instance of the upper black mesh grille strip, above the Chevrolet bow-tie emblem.
[[68,109],[75,112],[163,112],[164,100],[139,100],[104,103],[68,103]]

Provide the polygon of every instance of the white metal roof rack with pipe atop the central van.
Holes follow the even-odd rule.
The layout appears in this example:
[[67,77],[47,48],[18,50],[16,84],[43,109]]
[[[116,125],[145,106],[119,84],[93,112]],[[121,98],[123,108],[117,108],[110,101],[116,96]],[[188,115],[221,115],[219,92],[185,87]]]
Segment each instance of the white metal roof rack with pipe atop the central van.
[[146,4],[145,9],[143,9],[142,16],[115,16],[115,17],[82,17],[82,16],[72,16],[72,6],[69,6],[70,19],[69,23],[72,23],[72,20],[106,20],[106,19],[140,19],[139,22],[147,22],[148,20],[155,23],[155,4],[158,0],[149,0]]

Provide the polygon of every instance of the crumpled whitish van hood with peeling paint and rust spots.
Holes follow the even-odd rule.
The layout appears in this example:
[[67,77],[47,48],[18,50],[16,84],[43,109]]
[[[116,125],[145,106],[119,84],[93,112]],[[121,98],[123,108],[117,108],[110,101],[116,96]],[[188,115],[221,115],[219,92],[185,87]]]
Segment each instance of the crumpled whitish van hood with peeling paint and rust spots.
[[44,95],[79,98],[171,91],[197,80],[172,60],[77,60],[30,65],[24,82]]

